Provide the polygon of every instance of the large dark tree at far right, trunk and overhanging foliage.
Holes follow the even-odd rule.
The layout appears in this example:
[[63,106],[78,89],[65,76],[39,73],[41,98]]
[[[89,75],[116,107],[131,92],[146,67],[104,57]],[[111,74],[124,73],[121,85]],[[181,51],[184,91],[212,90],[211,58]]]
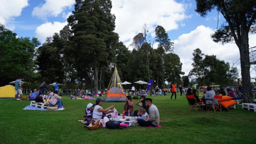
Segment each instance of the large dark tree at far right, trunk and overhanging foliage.
[[256,0],[196,0],[196,5],[196,12],[201,17],[206,17],[213,9],[224,16],[226,23],[215,31],[212,40],[222,43],[235,41],[240,52],[243,99],[245,103],[253,103],[248,35],[255,32]]

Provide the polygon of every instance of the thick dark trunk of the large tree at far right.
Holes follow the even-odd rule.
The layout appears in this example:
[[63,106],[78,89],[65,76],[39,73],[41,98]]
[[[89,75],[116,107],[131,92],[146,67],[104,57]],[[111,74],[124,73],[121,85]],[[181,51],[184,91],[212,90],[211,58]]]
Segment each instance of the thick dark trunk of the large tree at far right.
[[253,103],[250,76],[249,38],[245,31],[242,31],[241,33],[241,43],[238,47],[240,51],[241,75],[243,81],[243,100],[244,103]]

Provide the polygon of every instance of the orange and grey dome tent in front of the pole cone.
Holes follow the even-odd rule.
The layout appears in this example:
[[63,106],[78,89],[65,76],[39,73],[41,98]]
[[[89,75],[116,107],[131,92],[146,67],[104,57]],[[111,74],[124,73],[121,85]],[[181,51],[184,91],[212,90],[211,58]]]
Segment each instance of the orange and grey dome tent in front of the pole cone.
[[117,88],[111,88],[106,92],[105,102],[125,102],[124,92]]

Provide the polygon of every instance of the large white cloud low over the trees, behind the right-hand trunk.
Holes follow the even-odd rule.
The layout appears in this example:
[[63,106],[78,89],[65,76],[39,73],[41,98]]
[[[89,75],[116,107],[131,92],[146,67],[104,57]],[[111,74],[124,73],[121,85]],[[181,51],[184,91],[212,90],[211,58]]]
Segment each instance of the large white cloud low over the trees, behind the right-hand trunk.
[[[182,71],[187,75],[192,69],[192,53],[196,48],[200,48],[202,53],[207,55],[216,55],[219,60],[224,60],[233,65],[239,58],[239,49],[235,43],[228,43],[221,45],[211,40],[211,34],[214,30],[205,27],[203,25],[197,26],[197,28],[190,33],[179,36],[177,40],[174,40],[174,53],[180,58],[182,65]],[[256,34],[249,35],[249,45],[256,46]],[[238,66],[240,68],[240,65]]]

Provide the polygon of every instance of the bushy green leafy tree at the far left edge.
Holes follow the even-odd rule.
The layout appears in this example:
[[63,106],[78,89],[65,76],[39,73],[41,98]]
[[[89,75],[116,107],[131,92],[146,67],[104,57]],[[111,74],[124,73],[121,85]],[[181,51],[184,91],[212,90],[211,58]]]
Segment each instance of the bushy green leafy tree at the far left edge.
[[21,37],[0,24],[0,86],[17,78],[36,77],[35,48],[40,45],[37,38]]

